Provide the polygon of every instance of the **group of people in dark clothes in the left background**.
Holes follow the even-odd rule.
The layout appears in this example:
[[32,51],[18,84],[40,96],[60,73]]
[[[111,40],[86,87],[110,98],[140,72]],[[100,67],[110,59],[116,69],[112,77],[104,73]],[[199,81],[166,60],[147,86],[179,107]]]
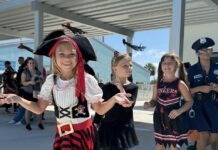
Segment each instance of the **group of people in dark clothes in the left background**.
[[[32,57],[27,57],[26,59],[19,57],[18,63],[20,66],[15,71],[11,66],[11,62],[5,61],[5,71],[1,75],[3,78],[3,93],[14,93],[30,101],[37,101],[37,98],[33,96],[36,91],[40,91],[45,77],[37,69],[37,63]],[[3,105],[7,113],[11,113],[9,110],[11,106],[12,104]],[[31,130],[30,120],[35,117],[32,112],[16,103],[13,103],[13,109],[15,116],[8,123],[15,125],[25,124],[26,129]],[[42,115],[36,116],[39,118],[38,126],[43,130]]]

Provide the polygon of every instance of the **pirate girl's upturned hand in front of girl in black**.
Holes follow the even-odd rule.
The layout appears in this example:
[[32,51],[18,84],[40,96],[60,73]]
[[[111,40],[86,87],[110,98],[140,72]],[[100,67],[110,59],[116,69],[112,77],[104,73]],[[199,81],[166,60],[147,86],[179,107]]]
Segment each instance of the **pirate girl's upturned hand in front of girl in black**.
[[131,97],[131,94],[129,94],[129,93],[117,93],[116,95],[114,95],[116,103],[122,105],[123,107],[130,107],[133,104],[133,102],[128,100],[127,97]]

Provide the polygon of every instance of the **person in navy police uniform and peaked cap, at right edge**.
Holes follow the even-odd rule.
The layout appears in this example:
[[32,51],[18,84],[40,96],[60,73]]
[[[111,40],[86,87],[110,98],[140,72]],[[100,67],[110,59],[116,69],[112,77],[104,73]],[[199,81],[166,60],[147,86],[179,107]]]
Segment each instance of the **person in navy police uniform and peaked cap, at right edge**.
[[209,37],[192,44],[198,62],[188,70],[195,112],[190,119],[190,128],[199,132],[197,150],[204,150],[208,144],[214,143],[218,135],[218,65],[211,62],[214,44]]

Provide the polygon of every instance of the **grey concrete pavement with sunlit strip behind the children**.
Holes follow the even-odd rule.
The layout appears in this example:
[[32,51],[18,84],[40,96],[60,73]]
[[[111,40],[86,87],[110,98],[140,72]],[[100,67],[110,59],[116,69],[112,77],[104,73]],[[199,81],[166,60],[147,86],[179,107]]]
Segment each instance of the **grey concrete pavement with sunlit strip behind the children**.
[[[137,101],[134,108],[134,120],[139,145],[132,150],[154,150],[153,138],[153,109],[144,110],[143,101]],[[55,134],[55,117],[53,107],[49,106],[45,111],[43,122],[45,129],[40,130],[37,123],[33,122],[31,131],[27,131],[24,125],[8,124],[15,113],[7,114],[0,107],[0,150],[52,150]],[[181,150],[185,150],[184,146]]]

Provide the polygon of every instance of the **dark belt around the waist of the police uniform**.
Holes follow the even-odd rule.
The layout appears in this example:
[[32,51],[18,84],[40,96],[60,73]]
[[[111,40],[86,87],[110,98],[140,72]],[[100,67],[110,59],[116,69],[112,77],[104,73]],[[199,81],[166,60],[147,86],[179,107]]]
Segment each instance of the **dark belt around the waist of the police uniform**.
[[215,91],[210,93],[195,93],[194,99],[198,101],[218,101],[218,94]]

